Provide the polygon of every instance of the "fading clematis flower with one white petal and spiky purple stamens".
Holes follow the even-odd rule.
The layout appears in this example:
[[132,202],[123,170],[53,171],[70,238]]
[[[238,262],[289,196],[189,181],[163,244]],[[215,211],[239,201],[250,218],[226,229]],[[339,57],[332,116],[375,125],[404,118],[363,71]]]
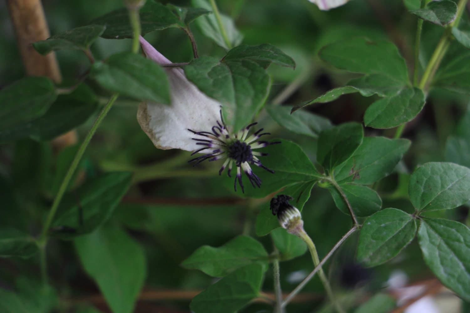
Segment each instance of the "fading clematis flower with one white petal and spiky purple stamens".
[[[160,65],[172,64],[143,37],[140,37],[140,42],[149,59]],[[166,72],[170,82],[171,105],[144,102],[137,112],[137,120],[153,144],[164,150],[193,151],[191,155],[202,153],[201,156],[189,160],[195,165],[204,160],[226,159],[219,175],[228,168],[227,175],[232,177],[230,173],[235,164],[235,191],[238,182],[244,192],[242,172],[253,187],[260,187],[261,179],[253,173],[251,165],[264,168],[270,173],[274,171],[266,168],[258,158],[266,156],[267,153],[253,150],[280,142],[259,140],[262,136],[270,135],[262,133],[263,129],[249,136],[251,127],[257,123],[252,123],[237,133],[230,133],[222,118],[221,104],[218,101],[199,91],[188,81],[182,69],[167,68]]]

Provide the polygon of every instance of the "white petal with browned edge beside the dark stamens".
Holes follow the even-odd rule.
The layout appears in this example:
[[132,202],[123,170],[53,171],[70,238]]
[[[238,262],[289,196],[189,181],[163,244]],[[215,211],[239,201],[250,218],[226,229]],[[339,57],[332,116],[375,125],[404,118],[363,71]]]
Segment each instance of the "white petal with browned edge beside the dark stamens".
[[[172,62],[159,53],[144,38],[142,49],[159,64]],[[170,81],[171,105],[144,102],[139,106],[137,120],[141,128],[159,149],[194,151],[201,148],[188,130],[210,131],[220,119],[220,103],[207,97],[188,81],[182,69],[166,69]]]

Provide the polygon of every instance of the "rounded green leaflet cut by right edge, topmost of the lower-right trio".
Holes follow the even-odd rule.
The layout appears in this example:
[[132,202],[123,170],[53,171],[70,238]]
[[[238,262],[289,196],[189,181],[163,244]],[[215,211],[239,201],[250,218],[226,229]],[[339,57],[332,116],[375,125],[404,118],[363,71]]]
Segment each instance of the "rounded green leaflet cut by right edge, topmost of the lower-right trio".
[[453,209],[470,199],[470,169],[446,162],[429,162],[410,177],[408,194],[418,211]]

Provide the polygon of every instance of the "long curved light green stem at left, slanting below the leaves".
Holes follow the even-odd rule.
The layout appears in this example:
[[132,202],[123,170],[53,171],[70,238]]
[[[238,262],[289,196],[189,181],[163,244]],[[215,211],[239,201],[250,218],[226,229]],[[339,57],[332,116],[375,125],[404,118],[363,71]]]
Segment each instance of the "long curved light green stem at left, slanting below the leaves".
[[49,214],[47,215],[46,222],[44,223],[41,235],[39,237],[39,244],[40,245],[46,245],[47,241],[47,231],[49,230],[49,227],[52,224],[52,221],[54,219],[55,213],[57,212],[57,209],[59,208],[60,201],[62,200],[62,197],[67,190],[67,186],[70,183],[70,180],[73,176],[73,173],[75,173],[75,170],[78,167],[78,163],[82,159],[83,153],[85,153],[86,147],[91,141],[91,138],[93,138],[94,133],[100,126],[101,122],[103,121],[104,117],[108,114],[110,111],[111,107],[113,106],[114,102],[116,99],[118,99],[119,94],[115,93],[113,96],[111,96],[108,104],[102,109],[100,115],[96,118],[96,121],[94,121],[94,124],[92,128],[88,131],[88,134],[86,134],[85,139],[83,140],[82,144],[78,148],[77,153],[75,154],[75,157],[72,161],[72,164],[70,165],[69,170],[65,174],[65,177],[63,178],[62,184],[60,185],[59,191],[57,191],[57,194],[55,195],[54,202],[52,203],[51,210],[49,211]]

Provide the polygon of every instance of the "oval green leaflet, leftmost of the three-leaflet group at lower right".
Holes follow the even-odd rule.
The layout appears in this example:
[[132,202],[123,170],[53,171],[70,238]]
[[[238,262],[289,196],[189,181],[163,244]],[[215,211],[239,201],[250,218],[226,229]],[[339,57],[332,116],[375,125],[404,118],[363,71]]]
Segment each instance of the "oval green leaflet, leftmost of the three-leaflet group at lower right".
[[394,258],[416,235],[410,214],[388,208],[369,217],[360,229],[357,260],[374,267]]

